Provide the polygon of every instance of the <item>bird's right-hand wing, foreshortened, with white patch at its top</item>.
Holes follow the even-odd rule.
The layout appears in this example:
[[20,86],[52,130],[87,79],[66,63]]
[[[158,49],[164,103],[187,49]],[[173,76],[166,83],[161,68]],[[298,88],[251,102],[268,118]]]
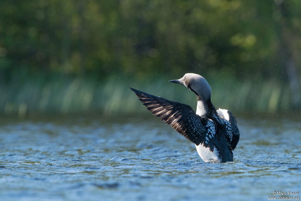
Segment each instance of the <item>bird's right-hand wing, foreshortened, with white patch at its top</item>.
[[221,118],[227,120],[225,121],[225,124],[227,129],[228,142],[231,146],[231,149],[234,150],[239,140],[239,130],[236,124],[236,119],[234,118],[232,112],[230,112],[229,110],[219,108],[218,110],[216,110],[216,112]]

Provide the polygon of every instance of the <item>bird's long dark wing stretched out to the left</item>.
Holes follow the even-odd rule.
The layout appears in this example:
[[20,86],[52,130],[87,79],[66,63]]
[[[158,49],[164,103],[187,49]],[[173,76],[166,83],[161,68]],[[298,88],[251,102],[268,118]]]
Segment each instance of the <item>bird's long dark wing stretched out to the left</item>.
[[208,118],[201,118],[189,105],[169,101],[159,96],[153,96],[139,90],[132,89],[140,98],[149,111],[159,117],[166,124],[173,127],[188,140],[196,145],[203,143],[203,146],[214,150],[214,138],[216,124]]

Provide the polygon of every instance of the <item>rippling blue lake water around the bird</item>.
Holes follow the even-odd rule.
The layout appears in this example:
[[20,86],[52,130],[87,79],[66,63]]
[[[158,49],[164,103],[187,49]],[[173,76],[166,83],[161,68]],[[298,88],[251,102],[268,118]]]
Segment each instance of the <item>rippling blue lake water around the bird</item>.
[[300,194],[300,120],[237,120],[234,162],[215,164],[203,162],[192,143],[152,115],[3,118],[0,200],[268,200],[274,191]]

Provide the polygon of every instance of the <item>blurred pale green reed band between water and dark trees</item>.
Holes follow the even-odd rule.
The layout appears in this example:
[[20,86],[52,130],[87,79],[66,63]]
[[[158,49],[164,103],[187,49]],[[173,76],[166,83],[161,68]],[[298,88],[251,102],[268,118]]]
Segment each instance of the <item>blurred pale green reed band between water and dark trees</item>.
[[[168,79],[132,80],[96,78],[32,77],[0,83],[0,113],[25,117],[30,114],[97,113],[104,116],[146,113],[129,87],[196,107],[196,97]],[[289,86],[277,80],[223,80],[208,76],[216,108],[235,113],[271,113],[292,107]],[[258,82],[260,82],[260,87]]]

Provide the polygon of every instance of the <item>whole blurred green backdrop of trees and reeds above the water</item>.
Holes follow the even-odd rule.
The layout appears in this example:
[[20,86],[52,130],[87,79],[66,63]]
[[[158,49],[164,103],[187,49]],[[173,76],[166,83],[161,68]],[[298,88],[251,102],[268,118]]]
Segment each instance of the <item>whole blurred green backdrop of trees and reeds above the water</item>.
[[300,109],[301,1],[1,1],[0,113],[147,112],[129,87],[196,105],[168,83],[206,78],[240,114]]

